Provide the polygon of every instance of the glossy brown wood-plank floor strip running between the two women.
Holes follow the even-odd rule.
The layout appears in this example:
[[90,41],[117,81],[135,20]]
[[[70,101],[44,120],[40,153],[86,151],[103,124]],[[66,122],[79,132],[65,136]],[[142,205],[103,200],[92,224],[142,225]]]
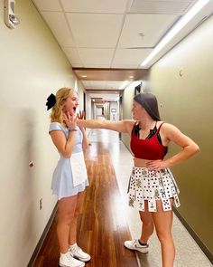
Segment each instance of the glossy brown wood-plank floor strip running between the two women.
[[[125,204],[106,144],[92,143],[86,155],[89,186],[79,216],[78,243],[91,260],[88,267],[137,267],[134,252],[124,247],[131,239],[125,215]],[[59,246],[56,236],[58,215],[51,225],[33,267],[58,267]]]

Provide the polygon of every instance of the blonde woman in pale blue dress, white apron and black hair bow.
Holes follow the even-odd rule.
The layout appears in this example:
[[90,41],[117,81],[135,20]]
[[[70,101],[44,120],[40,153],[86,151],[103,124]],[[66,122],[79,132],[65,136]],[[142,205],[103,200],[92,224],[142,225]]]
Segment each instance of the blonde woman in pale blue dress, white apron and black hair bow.
[[60,245],[61,267],[82,267],[90,260],[77,244],[77,220],[88,186],[88,175],[83,149],[88,148],[85,129],[77,126],[76,110],[79,106],[78,93],[61,88],[56,96],[47,99],[51,109],[50,135],[60,159],[52,176],[51,188],[59,198],[59,222],[57,235]]

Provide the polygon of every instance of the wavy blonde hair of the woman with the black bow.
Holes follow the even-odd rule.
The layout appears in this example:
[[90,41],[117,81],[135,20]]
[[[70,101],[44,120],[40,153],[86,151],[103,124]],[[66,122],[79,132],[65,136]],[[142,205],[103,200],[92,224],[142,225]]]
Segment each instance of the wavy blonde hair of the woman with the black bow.
[[69,95],[73,92],[76,92],[72,88],[63,87],[60,88],[56,93],[56,103],[54,107],[51,109],[51,122],[60,122],[63,124],[63,111],[62,111],[62,103],[64,100],[67,100]]

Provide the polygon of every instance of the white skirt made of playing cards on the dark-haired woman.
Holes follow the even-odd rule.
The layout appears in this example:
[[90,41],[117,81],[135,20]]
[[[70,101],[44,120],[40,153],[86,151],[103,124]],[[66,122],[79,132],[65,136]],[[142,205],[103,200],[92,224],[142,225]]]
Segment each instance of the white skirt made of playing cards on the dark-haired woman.
[[180,206],[179,188],[169,168],[154,171],[146,167],[133,167],[130,176],[128,195],[129,205],[144,211],[144,201],[148,202],[148,211],[156,212],[156,200],[162,201],[164,211],[171,210],[170,200]]

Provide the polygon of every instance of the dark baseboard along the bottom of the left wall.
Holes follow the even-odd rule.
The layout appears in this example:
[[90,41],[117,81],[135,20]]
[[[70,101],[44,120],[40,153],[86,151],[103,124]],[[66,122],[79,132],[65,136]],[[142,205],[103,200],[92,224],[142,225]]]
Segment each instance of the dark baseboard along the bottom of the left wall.
[[31,260],[30,260],[30,262],[28,263],[27,267],[32,267],[32,266],[33,266],[33,264],[34,264],[34,262],[35,262],[35,260],[36,260],[36,258],[37,258],[37,256],[38,256],[38,254],[39,254],[39,252],[40,252],[40,250],[41,250],[41,248],[42,248],[42,243],[44,242],[45,237],[46,237],[46,235],[48,234],[48,232],[49,232],[49,230],[50,230],[52,221],[53,221],[53,219],[54,219],[54,217],[55,217],[55,214],[56,214],[56,212],[57,212],[57,208],[58,208],[58,203],[55,205],[55,207],[54,207],[54,209],[53,209],[53,211],[52,211],[52,213],[51,213],[51,217],[50,217],[50,219],[49,219],[49,221],[48,221],[46,227],[44,228],[44,231],[43,231],[43,233],[42,233],[42,236],[41,236],[41,238],[40,238],[38,244],[36,245],[34,252],[32,253]]

